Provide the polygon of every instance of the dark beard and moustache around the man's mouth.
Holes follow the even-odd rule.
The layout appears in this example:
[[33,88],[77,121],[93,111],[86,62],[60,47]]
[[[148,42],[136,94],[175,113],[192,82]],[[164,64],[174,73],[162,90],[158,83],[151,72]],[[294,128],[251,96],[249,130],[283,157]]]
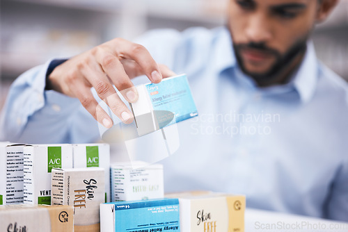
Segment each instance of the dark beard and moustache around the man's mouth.
[[[307,42],[307,36],[306,38],[303,38],[299,40],[298,42],[296,42],[283,55],[279,51],[267,47],[264,43],[255,43],[255,42],[250,42],[248,44],[233,43],[233,48],[235,50],[235,56],[239,63],[239,67],[242,69],[242,71],[246,75],[251,76],[256,82],[264,83],[264,82],[271,82],[274,79],[276,80],[277,76],[281,74],[281,72],[284,69],[286,69],[286,67],[289,67],[289,65],[292,64],[292,61],[299,54],[303,54],[306,51],[306,42]],[[262,72],[262,73],[249,72],[243,63],[242,56],[240,55],[242,49],[255,49],[261,52],[272,54],[276,58],[276,62],[266,72]]]

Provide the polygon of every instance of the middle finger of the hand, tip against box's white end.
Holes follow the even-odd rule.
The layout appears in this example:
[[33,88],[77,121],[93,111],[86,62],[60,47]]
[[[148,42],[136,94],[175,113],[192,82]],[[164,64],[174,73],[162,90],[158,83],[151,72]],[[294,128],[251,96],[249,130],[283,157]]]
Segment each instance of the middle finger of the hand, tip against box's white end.
[[103,51],[97,53],[96,56],[97,63],[100,63],[103,71],[109,76],[111,82],[120,91],[123,97],[128,102],[135,102],[138,100],[138,92],[132,81],[130,81],[129,76],[126,74],[120,60],[113,56],[113,54]]

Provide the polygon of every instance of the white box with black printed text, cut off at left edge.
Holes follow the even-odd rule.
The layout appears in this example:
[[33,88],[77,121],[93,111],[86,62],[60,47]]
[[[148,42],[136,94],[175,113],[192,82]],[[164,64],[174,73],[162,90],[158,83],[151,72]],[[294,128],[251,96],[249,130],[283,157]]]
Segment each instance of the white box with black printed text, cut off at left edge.
[[0,205],[23,203],[23,147],[0,143]]

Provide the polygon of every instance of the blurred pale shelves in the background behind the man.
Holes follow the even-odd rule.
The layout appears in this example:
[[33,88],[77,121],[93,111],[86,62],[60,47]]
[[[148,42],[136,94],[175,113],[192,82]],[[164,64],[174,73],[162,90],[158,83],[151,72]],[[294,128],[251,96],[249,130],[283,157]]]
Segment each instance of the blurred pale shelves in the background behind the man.
[[[228,0],[1,0],[0,110],[10,83],[50,58],[136,38],[152,28],[214,28]],[[348,1],[341,0],[313,35],[317,56],[348,81]]]

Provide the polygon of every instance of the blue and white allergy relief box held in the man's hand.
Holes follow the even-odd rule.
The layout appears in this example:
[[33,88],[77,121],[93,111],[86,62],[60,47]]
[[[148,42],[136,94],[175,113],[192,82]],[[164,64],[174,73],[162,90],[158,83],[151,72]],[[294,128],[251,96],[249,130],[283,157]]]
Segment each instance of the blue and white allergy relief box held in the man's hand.
[[136,90],[139,99],[129,105],[139,136],[198,115],[185,74],[137,85]]

